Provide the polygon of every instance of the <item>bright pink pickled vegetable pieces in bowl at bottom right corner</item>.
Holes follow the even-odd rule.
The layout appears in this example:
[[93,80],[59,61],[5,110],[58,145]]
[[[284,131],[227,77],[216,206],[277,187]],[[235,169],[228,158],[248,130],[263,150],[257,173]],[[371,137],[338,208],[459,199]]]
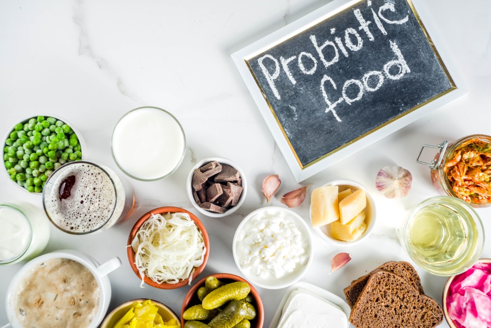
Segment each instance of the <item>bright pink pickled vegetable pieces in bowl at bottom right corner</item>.
[[446,303],[458,328],[491,328],[491,263],[477,263],[457,275]]

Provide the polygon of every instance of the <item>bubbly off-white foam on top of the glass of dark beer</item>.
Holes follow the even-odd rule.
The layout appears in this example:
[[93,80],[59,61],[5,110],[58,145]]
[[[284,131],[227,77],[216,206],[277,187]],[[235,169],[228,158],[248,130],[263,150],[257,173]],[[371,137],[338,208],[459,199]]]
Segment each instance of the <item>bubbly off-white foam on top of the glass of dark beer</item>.
[[[75,176],[71,195],[60,199],[60,187],[70,176]],[[55,177],[51,193],[45,196],[46,210],[53,222],[67,232],[94,231],[108,222],[114,212],[114,188],[112,180],[99,167],[87,163],[72,165]]]

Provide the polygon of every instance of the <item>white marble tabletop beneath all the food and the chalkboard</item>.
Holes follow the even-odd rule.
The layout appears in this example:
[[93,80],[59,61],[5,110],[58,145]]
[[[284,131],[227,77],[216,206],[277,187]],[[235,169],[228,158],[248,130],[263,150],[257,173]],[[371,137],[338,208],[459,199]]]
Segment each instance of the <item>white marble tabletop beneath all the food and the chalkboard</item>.
[[[299,185],[230,54],[327,2],[0,1],[0,134],[20,119],[52,113],[73,122],[82,132],[89,160],[115,170],[110,134],[127,111],[142,105],[162,107],[181,121],[187,134],[188,151],[174,175],[155,182],[130,181],[138,202],[130,220],[101,235],[85,237],[67,236],[52,227],[45,252],[76,248],[99,262],[119,256],[123,266],[109,275],[113,288],[110,308],[132,298],[155,298],[179,313],[189,287],[140,289],[126,258],[126,240],[136,219],[150,209],[170,205],[193,211],[185,193],[189,170],[204,157],[222,156],[239,163],[249,191],[243,207],[227,218],[199,215],[211,236],[211,256],[201,276],[239,274],[232,258],[232,238],[246,214],[266,205],[260,191],[262,179],[279,174],[283,181],[273,205],[283,206],[279,196]],[[331,179],[354,179],[375,197],[378,223],[371,239],[340,249],[315,237],[315,261],[303,280],[341,297],[353,279],[382,263],[409,261],[394,226],[411,207],[436,195],[428,168],[415,162],[420,146],[475,133],[491,134],[491,2],[425,2],[471,92],[304,181],[314,188]],[[221,131],[227,129],[238,137],[223,137]],[[387,200],[375,189],[374,180],[382,166],[395,164],[409,169],[413,187],[407,198]],[[5,175],[0,181],[0,202],[23,199],[41,206],[39,196],[26,196]],[[306,219],[309,202],[308,196],[294,209]],[[491,233],[491,209],[478,212],[486,232]],[[328,275],[330,260],[340,251],[352,253],[353,260]],[[482,257],[491,257],[489,238]],[[0,268],[0,326],[6,323],[7,285],[20,267]],[[418,271],[427,294],[441,302],[446,279]],[[260,289],[260,293],[268,327],[284,290]],[[448,326],[443,323],[440,327]]]

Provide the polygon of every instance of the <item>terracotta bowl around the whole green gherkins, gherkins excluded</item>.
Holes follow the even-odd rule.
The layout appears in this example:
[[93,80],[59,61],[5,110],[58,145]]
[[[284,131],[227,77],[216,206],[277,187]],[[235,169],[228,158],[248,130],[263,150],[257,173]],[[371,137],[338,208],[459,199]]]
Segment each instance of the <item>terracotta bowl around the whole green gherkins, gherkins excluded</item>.
[[[263,307],[263,301],[261,300],[261,297],[259,296],[259,293],[256,291],[254,286],[252,286],[246,279],[239,277],[238,275],[231,274],[231,273],[216,273],[212,274],[210,276],[216,277],[218,280],[225,282],[225,283],[231,283],[234,281],[244,281],[246,282],[249,287],[250,287],[250,294],[252,294],[252,298],[254,299],[254,307],[256,308],[256,318],[250,321],[250,327],[251,328],[262,328],[264,324],[264,307]],[[209,276],[208,276],[209,277]],[[189,290],[188,294],[186,294],[186,297],[184,298],[183,305],[181,307],[181,327],[184,327],[185,320],[182,318],[184,311],[186,311],[189,307],[200,304],[201,302],[198,299],[198,296],[196,295],[197,290],[205,285],[205,280],[208,277],[204,277],[203,279],[199,280],[197,283],[195,283],[191,289]]]

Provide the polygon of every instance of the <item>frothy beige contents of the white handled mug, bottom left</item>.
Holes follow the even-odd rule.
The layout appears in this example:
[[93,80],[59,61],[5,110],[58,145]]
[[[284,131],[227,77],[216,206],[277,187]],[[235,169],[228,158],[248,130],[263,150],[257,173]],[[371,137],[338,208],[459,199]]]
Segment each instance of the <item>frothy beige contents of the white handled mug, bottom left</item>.
[[15,309],[25,328],[88,327],[99,309],[99,285],[79,262],[50,259],[19,283]]

